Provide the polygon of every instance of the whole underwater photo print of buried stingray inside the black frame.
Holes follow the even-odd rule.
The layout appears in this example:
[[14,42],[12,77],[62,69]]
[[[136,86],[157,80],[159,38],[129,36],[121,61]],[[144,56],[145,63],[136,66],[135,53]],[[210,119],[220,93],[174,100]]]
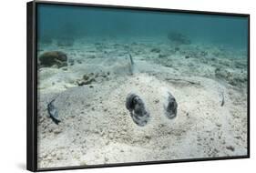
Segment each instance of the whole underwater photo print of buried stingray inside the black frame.
[[38,168],[246,156],[248,22],[37,4]]

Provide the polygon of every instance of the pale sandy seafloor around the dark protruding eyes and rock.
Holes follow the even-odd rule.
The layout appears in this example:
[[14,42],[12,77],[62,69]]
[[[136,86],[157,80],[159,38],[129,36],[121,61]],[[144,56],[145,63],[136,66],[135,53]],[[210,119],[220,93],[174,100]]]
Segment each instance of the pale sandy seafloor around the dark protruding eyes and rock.
[[[85,38],[73,46],[40,45],[38,55],[53,50],[67,54],[68,66],[38,69],[39,168],[247,154],[245,49]],[[94,80],[77,86],[84,75]],[[163,113],[166,90],[178,102],[174,119]],[[125,107],[130,92],[150,112],[145,127]],[[58,125],[46,110],[53,98]]]

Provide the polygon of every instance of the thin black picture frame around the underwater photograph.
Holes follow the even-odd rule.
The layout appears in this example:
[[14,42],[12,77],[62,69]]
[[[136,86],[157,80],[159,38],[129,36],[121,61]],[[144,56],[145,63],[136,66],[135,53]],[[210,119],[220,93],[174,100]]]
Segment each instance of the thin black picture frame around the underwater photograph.
[[[218,157],[218,158],[188,158],[177,160],[162,160],[162,161],[148,161],[148,162],[129,162],[121,164],[108,164],[108,165],[90,165],[90,166],[76,166],[76,167],[61,167],[61,168],[37,168],[37,119],[36,119],[36,83],[37,83],[37,65],[36,65],[36,6],[39,4],[47,5],[78,5],[78,6],[93,6],[101,8],[118,8],[118,9],[132,9],[139,11],[157,11],[157,12],[175,12],[186,14],[201,14],[201,15],[230,15],[241,16],[248,18],[248,122],[247,122],[247,155],[237,157]],[[177,9],[163,9],[163,8],[149,8],[138,6],[121,6],[121,5],[93,5],[93,4],[78,4],[78,3],[64,3],[64,2],[49,2],[49,1],[32,1],[26,5],[27,13],[27,29],[26,29],[26,42],[27,42],[27,90],[26,90],[26,168],[30,171],[46,171],[46,170],[67,170],[77,168],[109,168],[109,167],[122,167],[122,166],[136,166],[136,165],[148,165],[148,164],[166,164],[166,163],[178,163],[178,162],[194,162],[194,161],[207,161],[207,160],[223,160],[223,159],[235,159],[235,158],[250,158],[250,15],[249,14],[235,14],[235,13],[220,13],[220,12],[207,12],[207,11],[190,11],[190,10],[177,10]]]

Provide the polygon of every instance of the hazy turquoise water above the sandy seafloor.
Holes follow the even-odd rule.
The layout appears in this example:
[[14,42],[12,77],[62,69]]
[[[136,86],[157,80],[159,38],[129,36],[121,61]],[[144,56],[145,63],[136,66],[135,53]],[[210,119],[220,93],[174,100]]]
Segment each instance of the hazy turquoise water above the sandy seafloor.
[[246,48],[248,43],[248,18],[241,16],[41,4],[37,8],[37,17],[39,38],[157,38],[176,32],[187,36],[191,43],[241,48]]

